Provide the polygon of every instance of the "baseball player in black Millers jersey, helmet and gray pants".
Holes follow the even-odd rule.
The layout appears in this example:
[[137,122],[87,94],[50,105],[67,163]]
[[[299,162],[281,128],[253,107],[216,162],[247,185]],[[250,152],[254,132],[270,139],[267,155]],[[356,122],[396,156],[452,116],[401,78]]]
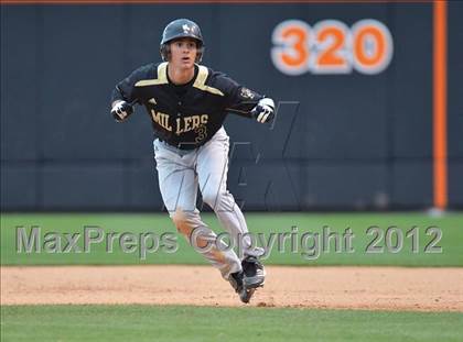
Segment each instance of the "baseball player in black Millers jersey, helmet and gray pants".
[[[265,283],[259,262],[263,250],[246,234],[245,217],[227,190],[229,137],[223,123],[229,112],[270,122],[273,100],[200,65],[204,42],[191,20],[169,23],[160,51],[162,63],[142,66],[116,86],[111,114],[121,122],[134,104],[144,106],[154,130],[159,187],[173,223],[248,302]],[[202,221],[198,189],[234,243],[243,247],[240,257]]]

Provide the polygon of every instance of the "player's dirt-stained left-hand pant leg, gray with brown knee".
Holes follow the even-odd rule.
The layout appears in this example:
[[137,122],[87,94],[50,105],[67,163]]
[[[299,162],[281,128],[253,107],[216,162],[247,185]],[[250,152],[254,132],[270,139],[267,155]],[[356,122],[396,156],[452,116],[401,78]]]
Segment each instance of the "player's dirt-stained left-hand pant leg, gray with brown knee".
[[196,209],[195,153],[181,156],[155,141],[154,154],[162,199],[177,231],[228,279],[232,273],[241,269],[240,262],[225,243],[216,242],[216,234],[201,220]]

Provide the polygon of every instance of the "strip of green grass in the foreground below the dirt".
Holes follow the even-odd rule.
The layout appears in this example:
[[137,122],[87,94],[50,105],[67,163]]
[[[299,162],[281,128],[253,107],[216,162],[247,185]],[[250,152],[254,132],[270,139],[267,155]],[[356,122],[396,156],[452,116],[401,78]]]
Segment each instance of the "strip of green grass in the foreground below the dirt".
[[8,306],[2,341],[461,341],[463,313]]

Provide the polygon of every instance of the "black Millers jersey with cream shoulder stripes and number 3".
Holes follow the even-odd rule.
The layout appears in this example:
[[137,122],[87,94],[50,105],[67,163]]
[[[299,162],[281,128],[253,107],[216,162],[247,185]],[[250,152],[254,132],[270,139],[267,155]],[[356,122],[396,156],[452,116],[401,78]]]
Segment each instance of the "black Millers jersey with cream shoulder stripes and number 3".
[[250,117],[263,97],[222,73],[195,65],[195,76],[183,86],[168,77],[168,63],[134,70],[112,91],[111,102],[125,100],[146,107],[154,134],[170,145],[195,148],[220,129],[227,113]]

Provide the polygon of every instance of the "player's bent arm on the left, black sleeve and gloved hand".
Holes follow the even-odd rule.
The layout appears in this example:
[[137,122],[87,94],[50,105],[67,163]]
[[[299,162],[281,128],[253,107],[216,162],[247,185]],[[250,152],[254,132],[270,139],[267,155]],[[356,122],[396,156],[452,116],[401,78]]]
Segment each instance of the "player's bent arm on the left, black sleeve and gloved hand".
[[134,84],[146,74],[146,68],[134,70],[129,77],[122,79],[112,89],[111,114],[117,122],[122,122],[133,113],[133,104],[139,99]]

